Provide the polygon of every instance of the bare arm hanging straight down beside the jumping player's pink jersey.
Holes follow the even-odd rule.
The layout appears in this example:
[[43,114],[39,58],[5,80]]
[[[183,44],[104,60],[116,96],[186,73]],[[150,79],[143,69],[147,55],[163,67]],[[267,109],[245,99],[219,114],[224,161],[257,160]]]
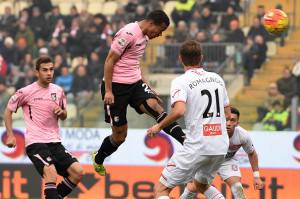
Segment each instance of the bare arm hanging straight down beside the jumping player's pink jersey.
[[105,104],[113,104],[114,103],[114,95],[112,93],[112,75],[114,65],[120,59],[120,55],[110,50],[104,64],[104,81],[105,81],[105,95],[104,95],[104,103]]

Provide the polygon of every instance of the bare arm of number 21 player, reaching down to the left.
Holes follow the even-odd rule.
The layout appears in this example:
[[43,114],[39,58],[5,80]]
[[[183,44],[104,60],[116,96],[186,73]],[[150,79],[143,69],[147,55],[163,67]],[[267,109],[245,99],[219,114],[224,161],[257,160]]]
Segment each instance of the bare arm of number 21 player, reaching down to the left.
[[148,135],[154,136],[156,133],[160,132],[163,128],[169,126],[171,123],[183,117],[185,110],[186,110],[185,102],[183,101],[175,102],[170,114],[168,114],[168,116],[165,119],[163,119],[160,123],[148,129]]

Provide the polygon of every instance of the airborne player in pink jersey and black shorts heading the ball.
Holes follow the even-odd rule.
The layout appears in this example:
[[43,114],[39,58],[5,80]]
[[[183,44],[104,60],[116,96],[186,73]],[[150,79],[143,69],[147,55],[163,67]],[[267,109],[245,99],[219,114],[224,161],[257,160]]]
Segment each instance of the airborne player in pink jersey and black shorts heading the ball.
[[[161,36],[169,24],[169,18],[163,11],[152,11],[146,19],[124,26],[113,39],[105,60],[104,81],[101,85],[105,121],[111,124],[112,135],[107,136],[98,152],[93,154],[93,165],[100,175],[106,174],[104,159],[114,153],[126,139],[128,105],[137,113],[146,113],[157,122],[167,116],[159,104],[159,97],[142,77],[140,59],[149,39]],[[163,130],[183,143],[184,133],[175,121]]]

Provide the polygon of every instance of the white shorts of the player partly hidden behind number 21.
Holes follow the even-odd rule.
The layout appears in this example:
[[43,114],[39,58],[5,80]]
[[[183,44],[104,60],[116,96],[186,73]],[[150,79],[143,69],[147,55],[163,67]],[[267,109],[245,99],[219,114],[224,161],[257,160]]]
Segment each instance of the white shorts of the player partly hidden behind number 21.
[[226,180],[233,176],[241,177],[241,171],[238,162],[234,159],[225,160],[221,164],[221,167],[218,170],[218,174],[223,180]]

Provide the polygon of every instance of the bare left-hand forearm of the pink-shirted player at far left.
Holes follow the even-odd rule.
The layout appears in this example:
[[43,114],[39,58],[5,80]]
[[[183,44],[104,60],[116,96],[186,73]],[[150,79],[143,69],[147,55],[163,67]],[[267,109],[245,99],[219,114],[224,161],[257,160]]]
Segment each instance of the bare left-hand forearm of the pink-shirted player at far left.
[[16,146],[16,137],[14,136],[13,130],[12,130],[12,111],[8,108],[5,109],[4,112],[4,123],[6,127],[6,133],[7,133],[7,140],[5,145],[9,148]]

